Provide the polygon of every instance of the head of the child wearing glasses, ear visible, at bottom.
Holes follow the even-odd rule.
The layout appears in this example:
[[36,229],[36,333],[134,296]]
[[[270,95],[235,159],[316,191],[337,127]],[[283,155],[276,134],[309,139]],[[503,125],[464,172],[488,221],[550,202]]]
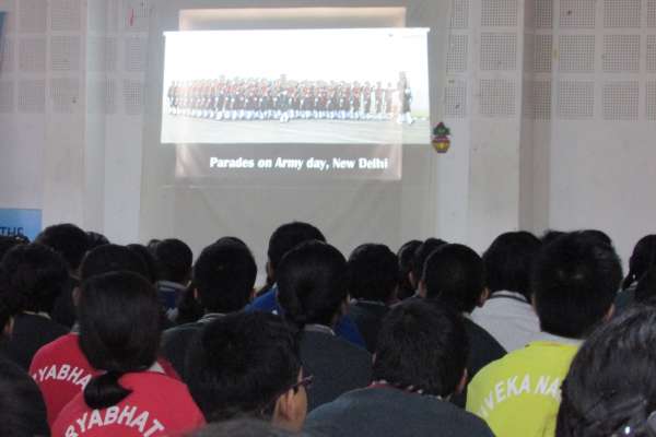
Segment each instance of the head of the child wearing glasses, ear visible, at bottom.
[[202,328],[187,355],[194,400],[208,422],[259,417],[298,430],[307,398],[294,330],[278,316],[239,312]]

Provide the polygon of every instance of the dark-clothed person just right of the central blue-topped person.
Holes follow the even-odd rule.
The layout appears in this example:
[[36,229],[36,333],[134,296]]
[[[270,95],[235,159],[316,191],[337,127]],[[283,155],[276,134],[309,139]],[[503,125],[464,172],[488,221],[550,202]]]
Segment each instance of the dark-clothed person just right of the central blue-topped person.
[[374,353],[383,318],[389,311],[388,305],[396,300],[398,259],[387,246],[367,244],[353,250],[347,268],[348,290],[353,298],[348,314],[364,338],[367,351]]

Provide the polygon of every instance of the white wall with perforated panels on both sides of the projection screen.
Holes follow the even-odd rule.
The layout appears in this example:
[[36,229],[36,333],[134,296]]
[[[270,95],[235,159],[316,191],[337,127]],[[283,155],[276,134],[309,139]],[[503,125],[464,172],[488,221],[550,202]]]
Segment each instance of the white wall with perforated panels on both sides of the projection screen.
[[[148,39],[164,3],[0,0],[0,208],[147,236]],[[400,211],[479,250],[506,229],[599,227],[626,258],[656,223],[656,0],[449,3],[453,147],[421,182],[433,200]]]

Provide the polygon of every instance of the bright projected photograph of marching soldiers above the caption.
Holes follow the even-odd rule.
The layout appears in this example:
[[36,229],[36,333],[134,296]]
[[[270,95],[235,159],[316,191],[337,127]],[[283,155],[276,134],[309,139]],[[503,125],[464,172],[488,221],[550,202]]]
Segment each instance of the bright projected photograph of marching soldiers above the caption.
[[165,37],[163,143],[430,142],[427,29]]

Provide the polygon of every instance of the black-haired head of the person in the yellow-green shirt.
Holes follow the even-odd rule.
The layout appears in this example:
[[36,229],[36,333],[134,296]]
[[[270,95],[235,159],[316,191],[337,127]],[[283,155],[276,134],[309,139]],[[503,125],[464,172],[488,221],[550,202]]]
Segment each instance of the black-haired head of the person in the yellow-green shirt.
[[531,274],[540,328],[572,339],[586,336],[610,315],[621,279],[612,246],[585,233],[571,233],[546,245]]

